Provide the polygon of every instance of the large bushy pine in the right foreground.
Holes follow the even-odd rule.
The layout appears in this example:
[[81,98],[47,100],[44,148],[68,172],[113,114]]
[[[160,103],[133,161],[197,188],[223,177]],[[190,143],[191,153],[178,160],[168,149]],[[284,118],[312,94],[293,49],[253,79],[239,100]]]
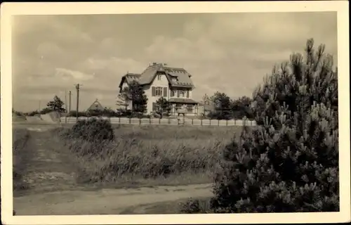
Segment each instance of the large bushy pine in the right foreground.
[[226,146],[215,212],[339,210],[337,74],[323,45],[314,51],[310,39],[305,53],[293,54],[254,93],[260,126]]

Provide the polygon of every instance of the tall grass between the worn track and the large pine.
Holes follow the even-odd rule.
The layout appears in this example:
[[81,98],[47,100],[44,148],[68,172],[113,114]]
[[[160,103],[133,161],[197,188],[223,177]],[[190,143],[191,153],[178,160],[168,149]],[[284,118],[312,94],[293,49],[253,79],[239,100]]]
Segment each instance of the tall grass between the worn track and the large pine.
[[118,126],[114,140],[86,141],[56,132],[84,168],[86,181],[166,179],[212,172],[237,127]]

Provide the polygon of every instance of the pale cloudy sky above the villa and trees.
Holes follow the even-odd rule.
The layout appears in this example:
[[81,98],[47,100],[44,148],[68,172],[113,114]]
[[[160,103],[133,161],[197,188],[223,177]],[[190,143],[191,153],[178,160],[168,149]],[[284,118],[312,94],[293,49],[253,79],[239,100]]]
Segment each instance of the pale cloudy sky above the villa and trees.
[[65,91],[74,110],[77,83],[79,110],[96,98],[115,109],[121,77],[152,62],[190,72],[197,101],[216,91],[251,97],[309,38],[337,63],[335,12],[16,15],[12,29],[13,108],[22,112],[65,101]]

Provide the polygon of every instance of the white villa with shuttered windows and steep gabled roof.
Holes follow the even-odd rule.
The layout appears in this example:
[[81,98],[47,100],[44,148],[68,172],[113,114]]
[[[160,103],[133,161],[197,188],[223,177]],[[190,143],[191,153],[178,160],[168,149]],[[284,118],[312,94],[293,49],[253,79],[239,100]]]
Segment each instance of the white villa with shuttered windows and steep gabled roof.
[[[125,86],[137,81],[147,95],[147,114],[157,109],[156,101],[164,97],[172,105],[172,114],[182,108],[187,115],[197,115],[197,101],[192,99],[194,84],[183,68],[170,68],[163,63],[152,63],[142,73],[127,73],[121,78],[119,92]],[[130,104],[131,105],[131,104]],[[183,111],[182,110],[182,111]]]

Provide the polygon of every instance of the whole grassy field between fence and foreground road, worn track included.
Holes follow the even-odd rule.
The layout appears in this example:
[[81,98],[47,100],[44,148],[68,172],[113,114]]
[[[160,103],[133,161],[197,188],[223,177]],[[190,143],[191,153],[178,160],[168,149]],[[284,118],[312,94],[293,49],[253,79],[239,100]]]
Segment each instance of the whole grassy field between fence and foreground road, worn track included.
[[[241,127],[112,127],[113,141],[95,143],[65,136],[72,126],[44,132],[14,128],[14,194],[212,183],[224,146],[241,131]],[[53,173],[73,173],[74,183],[33,176]]]

